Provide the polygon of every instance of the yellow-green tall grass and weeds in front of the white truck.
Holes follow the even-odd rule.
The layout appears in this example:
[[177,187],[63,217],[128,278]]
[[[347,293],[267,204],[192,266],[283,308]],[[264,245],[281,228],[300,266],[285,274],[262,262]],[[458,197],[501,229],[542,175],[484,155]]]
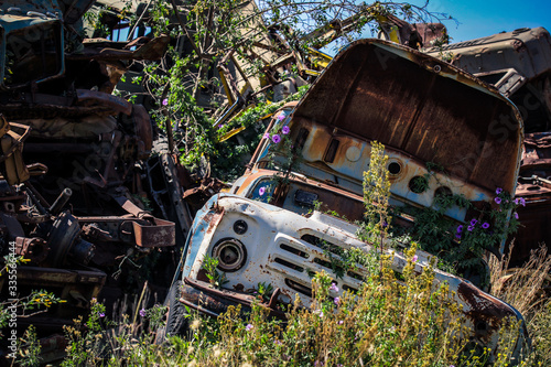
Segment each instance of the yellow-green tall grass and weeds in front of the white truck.
[[473,355],[460,337],[462,312],[447,285],[434,287],[432,269],[414,273],[414,251],[407,251],[401,281],[388,257],[357,293],[339,298],[331,296],[337,287],[329,276],[317,273],[311,307],[296,298],[287,321],[268,317],[258,305],[248,314],[229,307],[217,319],[190,314],[187,335],[161,345],[154,344],[161,307],[115,323],[94,303],[86,322],[66,328],[69,346],[62,365],[484,366],[485,354]]

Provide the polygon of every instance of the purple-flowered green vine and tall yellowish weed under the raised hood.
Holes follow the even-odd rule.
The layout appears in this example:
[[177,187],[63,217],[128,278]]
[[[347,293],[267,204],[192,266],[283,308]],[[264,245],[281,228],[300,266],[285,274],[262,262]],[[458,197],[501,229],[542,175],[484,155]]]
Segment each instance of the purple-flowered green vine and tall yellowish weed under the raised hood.
[[[485,204],[474,207],[464,196],[451,192],[437,192],[430,207],[389,206],[390,182],[388,179],[385,147],[378,142],[371,144],[369,170],[364,173],[364,202],[366,204],[366,223],[360,223],[358,237],[371,244],[383,241],[395,247],[419,244],[421,249],[439,258],[442,270],[465,276],[478,273],[487,278],[486,267],[482,259],[487,250],[498,248],[505,239],[517,231],[519,226],[516,209],[525,205],[523,198],[512,198],[501,188],[496,188],[495,206]],[[431,188],[434,177],[436,185],[442,186],[435,172],[442,168],[433,162],[426,163],[429,173],[413,181],[413,192],[425,192]],[[432,180],[434,181],[434,180]],[[472,213],[465,224],[446,215],[450,209],[464,209]],[[411,227],[396,226],[392,217],[407,215],[412,220]]]

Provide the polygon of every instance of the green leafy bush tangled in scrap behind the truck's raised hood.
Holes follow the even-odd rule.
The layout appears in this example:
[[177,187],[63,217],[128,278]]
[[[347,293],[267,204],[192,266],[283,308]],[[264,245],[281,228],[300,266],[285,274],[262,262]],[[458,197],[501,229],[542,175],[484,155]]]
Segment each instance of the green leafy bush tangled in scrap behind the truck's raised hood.
[[[136,26],[141,19],[129,12],[130,1],[122,3],[126,8],[118,17]],[[238,0],[185,1],[179,3],[177,17],[173,6],[170,1],[148,2],[143,18],[147,24],[142,25],[151,28],[151,36],[169,35],[171,43],[161,61],[136,62],[141,64],[134,67],[140,74],[132,76],[131,83],[141,86],[150,98],[148,109],[156,126],[174,136],[172,148],[179,152],[181,162],[192,172],[208,172],[224,181],[242,173],[242,165],[264,128],[258,121],[283,104],[273,102],[274,93],[267,87],[296,78],[309,84],[315,79],[315,73],[304,72],[315,66],[315,60],[301,56],[310,47],[327,45],[336,51],[366,30],[375,34],[379,31],[380,15],[429,22],[449,18],[429,12],[426,6],[348,0],[268,0],[257,1],[256,6]],[[107,31],[101,17],[91,11],[86,15],[98,36]],[[329,24],[345,19],[350,21],[343,34],[322,35],[331,30]],[[312,33],[316,30],[317,33]],[[295,53],[298,56],[293,57],[298,58],[272,69],[270,63],[274,60],[266,58],[264,51],[258,48],[259,42],[278,57]],[[228,78],[225,68],[238,71],[233,71],[235,76]],[[300,98],[305,89],[299,88],[285,101]],[[116,93],[129,100],[136,98],[121,90]],[[234,105],[238,105],[235,110]],[[234,137],[237,129],[244,128]]]

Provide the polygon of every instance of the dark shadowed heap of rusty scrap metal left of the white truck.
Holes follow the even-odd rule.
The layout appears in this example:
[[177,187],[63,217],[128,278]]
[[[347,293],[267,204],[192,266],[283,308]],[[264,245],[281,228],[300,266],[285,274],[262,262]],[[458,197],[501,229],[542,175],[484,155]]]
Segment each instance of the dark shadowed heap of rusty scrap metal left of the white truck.
[[[83,39],[93,0],[3,1],[0,9],[0,252],[21,257],[18,296],[66,301],[19,324],[60,331],[91,299],[141,289],[164,296],[190,214],[181,168],[145,108],[112,95],[132,62],[159,60],[169,36]],[[183,242],[183,241],[180,241]],[[162,263],[165,272],[148,272]],[[0,279],[3,300],[6,277]]]

